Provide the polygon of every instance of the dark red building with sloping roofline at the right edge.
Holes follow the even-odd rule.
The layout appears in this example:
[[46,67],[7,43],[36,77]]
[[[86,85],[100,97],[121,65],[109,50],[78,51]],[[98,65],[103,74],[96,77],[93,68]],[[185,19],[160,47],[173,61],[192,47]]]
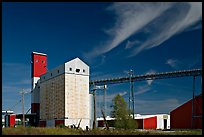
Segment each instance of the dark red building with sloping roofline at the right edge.
[[[194,115],[202,115],[202,95],[194,100]],[[192,100],[170,112],[171,128],[192,127]],[[194,128],[202,129],[202,118],[194,118]]]

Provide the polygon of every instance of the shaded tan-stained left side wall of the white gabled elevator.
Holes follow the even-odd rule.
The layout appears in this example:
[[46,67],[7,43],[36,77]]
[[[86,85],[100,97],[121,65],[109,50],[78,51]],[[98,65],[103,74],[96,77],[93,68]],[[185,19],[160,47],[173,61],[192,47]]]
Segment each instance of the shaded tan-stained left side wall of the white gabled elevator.
[[40,119],[61,119],[65,116],[65,75],[41,83]]

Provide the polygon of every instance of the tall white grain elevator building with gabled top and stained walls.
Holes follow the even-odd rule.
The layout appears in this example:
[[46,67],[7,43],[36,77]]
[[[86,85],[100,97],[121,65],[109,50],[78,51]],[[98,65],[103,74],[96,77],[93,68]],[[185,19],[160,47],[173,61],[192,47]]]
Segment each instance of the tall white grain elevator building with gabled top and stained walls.
[[[43,61],[46,64],[47,61]],[[34,65],[32,68],[34,71],[44,69],[43,66],[36,68]],[[52,70],[43,70],[40,77],[33,80],[33,85],[37,95],[33,94],[32,98],[39,105],[39,126],[55,127],[62,124],[82,129],[92,128],[89,66],[82,60],[75,58]]]

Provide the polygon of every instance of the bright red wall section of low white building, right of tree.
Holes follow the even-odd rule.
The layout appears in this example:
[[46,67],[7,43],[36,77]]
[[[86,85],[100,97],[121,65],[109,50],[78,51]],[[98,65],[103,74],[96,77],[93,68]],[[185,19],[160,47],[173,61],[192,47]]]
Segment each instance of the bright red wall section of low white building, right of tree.
[[144,119],[144,129],[156,129],[157,128],[157,116]]

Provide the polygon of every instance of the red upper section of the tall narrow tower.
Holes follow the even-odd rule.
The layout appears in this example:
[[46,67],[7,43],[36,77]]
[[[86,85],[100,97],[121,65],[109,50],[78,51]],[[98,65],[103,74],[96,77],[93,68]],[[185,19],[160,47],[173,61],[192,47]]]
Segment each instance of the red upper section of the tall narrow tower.
[[40,77],[47,71],[47,56],[32,53],[32,77]]

